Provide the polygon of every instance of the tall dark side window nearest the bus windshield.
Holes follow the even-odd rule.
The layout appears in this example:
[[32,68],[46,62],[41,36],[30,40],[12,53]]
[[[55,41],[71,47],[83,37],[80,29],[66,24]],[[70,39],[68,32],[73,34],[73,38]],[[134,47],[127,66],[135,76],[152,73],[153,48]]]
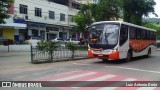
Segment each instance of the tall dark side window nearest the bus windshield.
[[128,25],[121,25],[120,29],[120,46],[122,46],[128,39]]

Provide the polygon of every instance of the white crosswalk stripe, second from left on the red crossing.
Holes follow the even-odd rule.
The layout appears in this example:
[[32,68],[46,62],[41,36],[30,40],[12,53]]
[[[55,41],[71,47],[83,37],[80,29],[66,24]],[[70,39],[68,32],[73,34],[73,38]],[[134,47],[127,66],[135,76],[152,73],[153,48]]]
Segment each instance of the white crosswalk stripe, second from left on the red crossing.
[[[101,76],[101,77],[98,77],[98,78],[94,78],[94,79],[90,79],[90,80],[87,80],[87,81],[103,81],[103,80],[106,80],[106,79],[109,79],[109,78],[112,78],[112,77],[115,77],[115,75],[105,75],[105,76]],[[87,85],[90,85],[90,84],[93,84],[95,82],[82,82],[82,83],[77,83],[77,84],[73,84],[72,86],[87,86]],[[79,88],[79,87],[72,87],[72,88]]]

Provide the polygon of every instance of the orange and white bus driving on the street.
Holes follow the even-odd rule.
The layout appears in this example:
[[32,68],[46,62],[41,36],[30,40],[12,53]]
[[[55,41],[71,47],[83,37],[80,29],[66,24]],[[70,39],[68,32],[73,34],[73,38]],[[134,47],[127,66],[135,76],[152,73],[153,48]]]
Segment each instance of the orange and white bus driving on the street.
[[130,61],[156,50],[156,30],[122,21],[101,21],[89,27],[89,57]]

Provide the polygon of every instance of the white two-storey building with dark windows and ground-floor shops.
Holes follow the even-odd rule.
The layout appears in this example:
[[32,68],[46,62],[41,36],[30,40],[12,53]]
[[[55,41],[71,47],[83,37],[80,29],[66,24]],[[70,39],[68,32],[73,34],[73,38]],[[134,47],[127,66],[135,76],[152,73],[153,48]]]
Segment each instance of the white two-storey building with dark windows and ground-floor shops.
[[72,17],[79,11],[78,7],[79,4],[73,0],[15,0],[12,17],[8,20],[27,27],[8,31],[12,34],[6,37],[13,35],[10,39],[15,42],[19,42],[20,37],[24,40],[30,37],[67,39],[70,37],[69,29],[76,25]]

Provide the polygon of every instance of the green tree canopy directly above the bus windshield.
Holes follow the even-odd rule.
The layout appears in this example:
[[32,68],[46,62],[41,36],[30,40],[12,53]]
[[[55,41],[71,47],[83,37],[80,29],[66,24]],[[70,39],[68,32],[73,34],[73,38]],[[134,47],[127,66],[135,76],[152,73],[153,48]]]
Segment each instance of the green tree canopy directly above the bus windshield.
[[95,21],[118,20],[120,0],[99,0],[99,3],[91,5],[91,11]]

